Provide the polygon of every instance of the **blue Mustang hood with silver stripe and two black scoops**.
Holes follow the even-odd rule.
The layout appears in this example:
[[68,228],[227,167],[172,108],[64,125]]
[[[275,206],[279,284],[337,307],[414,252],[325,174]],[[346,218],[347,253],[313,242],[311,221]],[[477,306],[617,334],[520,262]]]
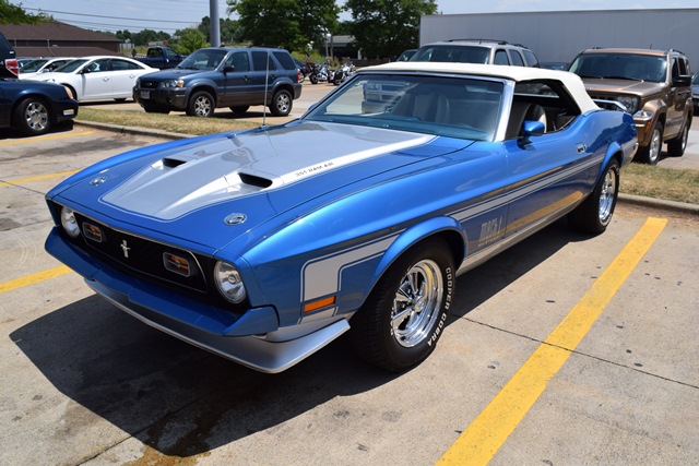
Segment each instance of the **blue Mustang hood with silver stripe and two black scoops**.
[[78,182],[67,180],[69,187],[57,190],[57,201],[62,198],[75,208],[85,206],[88,214],[193,242],[208,231],[206,246],[220,248],[235,237],[230,229],[222,230],[229,216],[245,218],[242,232],[331,191],[353,183],[366,188],[363,181],[371,177],[471,143],[377,128],[293,122],[194,139],[103,165],[99,172]]

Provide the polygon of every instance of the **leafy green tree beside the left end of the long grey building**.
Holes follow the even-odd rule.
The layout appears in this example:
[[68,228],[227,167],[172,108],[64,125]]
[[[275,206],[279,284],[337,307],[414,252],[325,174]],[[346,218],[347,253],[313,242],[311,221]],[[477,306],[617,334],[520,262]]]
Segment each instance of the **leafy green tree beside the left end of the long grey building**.
[[350,32],[369,58],[394,57],[419,44],[419,19],[437,13],[435,0],[347,0]]

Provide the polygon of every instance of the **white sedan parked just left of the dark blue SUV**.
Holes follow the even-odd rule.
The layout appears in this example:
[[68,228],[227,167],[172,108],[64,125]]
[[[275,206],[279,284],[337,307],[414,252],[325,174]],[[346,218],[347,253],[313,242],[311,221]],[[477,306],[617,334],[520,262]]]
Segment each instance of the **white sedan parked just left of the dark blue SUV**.
[[44,81],[70,87],[79,101],[126,100],[133,95],[135,80],[157,69],[125,57],[95,56],[76,58],[48,73],[26,81]]

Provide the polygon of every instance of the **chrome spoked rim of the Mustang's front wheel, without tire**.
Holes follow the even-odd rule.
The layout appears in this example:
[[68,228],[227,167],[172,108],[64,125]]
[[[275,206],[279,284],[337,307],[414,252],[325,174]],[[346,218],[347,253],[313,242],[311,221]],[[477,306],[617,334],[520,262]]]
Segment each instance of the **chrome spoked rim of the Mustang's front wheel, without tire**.
[[413,265],[398,288],[391,311],[391,335],[411,348],[429,336],[439,315],[443,295],[439,265],[423,260]]

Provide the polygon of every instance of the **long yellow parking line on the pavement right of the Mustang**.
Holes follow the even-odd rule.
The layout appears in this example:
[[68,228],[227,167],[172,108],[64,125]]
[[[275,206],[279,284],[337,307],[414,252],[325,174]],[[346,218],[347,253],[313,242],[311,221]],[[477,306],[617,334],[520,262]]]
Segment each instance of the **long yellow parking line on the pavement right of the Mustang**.
[[437,464],[486,465],[568,360],[667,224],[648,218],[592,288],[540,345]]

